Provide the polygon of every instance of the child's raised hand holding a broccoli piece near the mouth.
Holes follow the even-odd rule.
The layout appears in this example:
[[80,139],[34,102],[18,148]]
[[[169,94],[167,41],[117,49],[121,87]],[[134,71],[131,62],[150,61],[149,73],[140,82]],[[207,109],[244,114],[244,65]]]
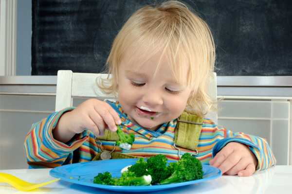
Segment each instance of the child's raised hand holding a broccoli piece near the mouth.
[[96,137],[99,137],[105,135],[105,129],[115,132],[116,124],[121,123],[118,113],[108,103],[90,99],[74,110],[64,113],[53,135],[58,141],[68,142],[76,133],[89,129]]

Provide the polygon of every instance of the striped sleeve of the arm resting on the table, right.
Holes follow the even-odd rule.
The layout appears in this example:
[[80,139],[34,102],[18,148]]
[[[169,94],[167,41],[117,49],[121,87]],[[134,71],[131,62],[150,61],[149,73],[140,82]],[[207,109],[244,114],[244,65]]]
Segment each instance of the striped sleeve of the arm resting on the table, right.
[[[219,128],[223,128],[218,126]],[[256,171],[264,170],[272,165],[275,165],[276,159],[272,153],[268,142],[263,139],[253,135],[247,135],[244,133],[233,133],[224,128],[226,131],[224,133],[225,138],[218,141],[213,148],[213,156],[215,156],[227,143],[231,141],[236,141],[247,145],[251,151],[255,154],[257,158]]]

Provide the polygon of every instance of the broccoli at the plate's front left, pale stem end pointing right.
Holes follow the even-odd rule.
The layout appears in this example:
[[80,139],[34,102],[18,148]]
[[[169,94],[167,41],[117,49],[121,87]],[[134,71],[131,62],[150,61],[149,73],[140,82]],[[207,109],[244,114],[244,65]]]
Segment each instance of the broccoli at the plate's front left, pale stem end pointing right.
[[112,178],[109,172],[98,173],[93,183],[115,186],[146,186],[151,183],[151,176],[135,176],[132,172],[123,172],[120,178]]

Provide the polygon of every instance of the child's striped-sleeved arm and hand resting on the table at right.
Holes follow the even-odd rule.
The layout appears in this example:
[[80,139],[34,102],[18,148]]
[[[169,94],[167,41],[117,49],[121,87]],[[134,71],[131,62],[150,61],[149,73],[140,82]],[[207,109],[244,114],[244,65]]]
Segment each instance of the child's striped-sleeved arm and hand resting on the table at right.
[[265,139],[241,132],[233,133],[218,125],[214,129],[216,139],[221,140],[214,146],[214,159],[209,164],[223,173],[250,176],[275,164],[276,160]]

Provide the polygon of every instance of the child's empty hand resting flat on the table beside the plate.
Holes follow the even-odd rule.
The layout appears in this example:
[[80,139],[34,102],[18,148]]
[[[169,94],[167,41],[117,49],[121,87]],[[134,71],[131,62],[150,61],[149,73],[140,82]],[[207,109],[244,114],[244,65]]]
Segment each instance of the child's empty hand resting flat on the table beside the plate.
[[246,145],[230,142],[209,163],[226,175],[250,176],[256,170],[257,159]]

